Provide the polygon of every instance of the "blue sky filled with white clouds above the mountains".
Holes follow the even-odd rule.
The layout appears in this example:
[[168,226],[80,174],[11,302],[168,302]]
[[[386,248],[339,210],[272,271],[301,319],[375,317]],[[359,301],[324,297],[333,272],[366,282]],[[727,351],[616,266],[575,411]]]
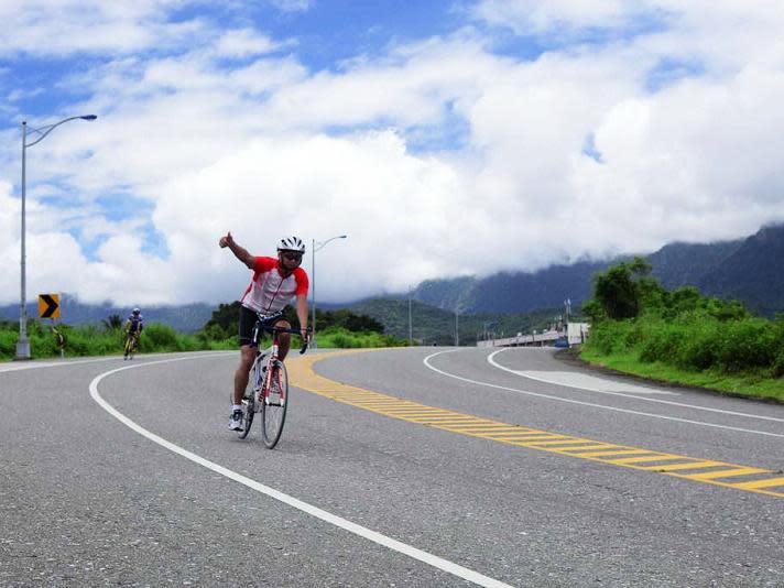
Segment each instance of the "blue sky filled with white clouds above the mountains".
[[232,300],[228,230],[258,254],[348,233],[319,252],[330,301],[751,233],[784,220],[780,12],[0,0],[0,303],[20,122],[83,113],[28,150],[28,265],[86,302]]

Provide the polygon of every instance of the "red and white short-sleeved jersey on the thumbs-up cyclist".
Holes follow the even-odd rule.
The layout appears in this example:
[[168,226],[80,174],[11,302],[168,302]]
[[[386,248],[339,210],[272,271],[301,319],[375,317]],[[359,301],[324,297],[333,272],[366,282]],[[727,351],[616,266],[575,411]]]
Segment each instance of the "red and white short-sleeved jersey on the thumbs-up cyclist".
[[242,294],[240,304],[257,313],[282,311],[294,296],[307,295],[308,280],[305,270],[297,268],[287,277],[277,271],[274,258],[255,258],[253,277]]

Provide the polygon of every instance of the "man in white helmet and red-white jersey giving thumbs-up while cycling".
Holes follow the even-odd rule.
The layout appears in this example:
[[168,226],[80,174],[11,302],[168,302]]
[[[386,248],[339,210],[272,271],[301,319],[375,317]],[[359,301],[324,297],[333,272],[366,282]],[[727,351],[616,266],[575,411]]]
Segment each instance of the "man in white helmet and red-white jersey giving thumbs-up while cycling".
[[[296,316],[300,319],[300,333],[307,339],[307,287],[308,279],[300,264],[305,253],[305,243],[297,237],[284,237],[277,243],[277,259],[251,255],[240,247],[228,232],[218,241],[221,248],[228,247],[235,257],[253,271],[250,284],[240,300],[240,364],[235,372],[235,390],[231,398],[231,420],[229,428],[242,429],[242,395],[248,385],[248,373],[255,359],[255,348],[251,347],[251,337],[257,322],[257,313],[273,315],[296,297]],[[291,328],[287,320],[279,318],[275,324]],[[280,335],[279,359],[283,361],[291,347],[291,336]]]

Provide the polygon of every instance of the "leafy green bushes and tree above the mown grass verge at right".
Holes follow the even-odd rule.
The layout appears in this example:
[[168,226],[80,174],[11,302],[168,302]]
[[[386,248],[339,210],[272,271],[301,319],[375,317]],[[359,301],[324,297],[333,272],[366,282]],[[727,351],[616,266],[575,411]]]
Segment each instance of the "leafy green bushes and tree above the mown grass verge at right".
[[634,279],[631,274],[632,268],[621,264],[595,280],[594,298],[584,308],[633,302],[625,296],[630,283],[642,304],[633,318],[619,319],[633,313],[611,312],[618,308],[607,304],[605,313],[591,314],[586,351],[607,357],[632,350],[640,362],[742,374],[749,381],[784,377],[784,314],[774,320],[754,317],[742,303],[703,296],[694,286],[666,292],[642,265]]

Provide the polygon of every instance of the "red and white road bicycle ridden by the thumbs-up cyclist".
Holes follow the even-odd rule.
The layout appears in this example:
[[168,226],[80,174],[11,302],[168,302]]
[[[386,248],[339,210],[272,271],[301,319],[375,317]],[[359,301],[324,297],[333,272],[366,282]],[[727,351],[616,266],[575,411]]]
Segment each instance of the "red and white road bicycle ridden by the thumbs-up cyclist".
[[[253,327],[251,347],[257,348],[255,359],[250,370],[248,389],[242,399],[242,431],[239,435],[244,439],[250,433],[257,414],[261,418],[261,438],[264,445],[272,449],[281,438],[288,407],[288,374],[285,364],[277,359],[279,336],[281,333],[300,335],[300,329],[275,327],[272,323],[282,313],[271,316],[258,314],[259,319]],[[272,345],[262,351],[259,342],[264,331],[272,335]],[[309,333],[309,329],[308,329]],[[307,339],[303,342],[300,353],[307,350]]]

